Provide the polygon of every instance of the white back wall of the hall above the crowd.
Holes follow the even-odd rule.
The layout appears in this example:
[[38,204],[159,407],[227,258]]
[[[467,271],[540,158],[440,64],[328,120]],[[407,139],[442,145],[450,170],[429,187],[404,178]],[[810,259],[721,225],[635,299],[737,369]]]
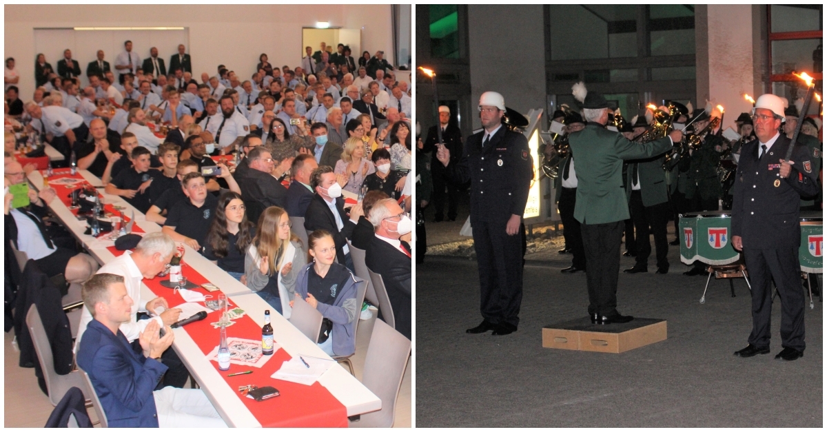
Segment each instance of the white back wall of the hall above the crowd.
[[[34,91],[36,27],[184,26],[196,79],[202,72],[215,74],[219,64],[247,78],[255,72],[262,52],[274,65],[298,66],[304,50],[302,27],[316,22],[361,28],[362,49],[384,50],[385,58],[394,63],[390,15],[390,5],[6,5],[4,58],[17,60],[24,100]],[[133,50],[145,58],[149,48]],[[160,52],[166,61],[172,54]],[[110,64],[116,55],[107,53]],[[74,53],[84,68],[94,57],[94,52]],[[56,68],[60,59],[48,60]]]

